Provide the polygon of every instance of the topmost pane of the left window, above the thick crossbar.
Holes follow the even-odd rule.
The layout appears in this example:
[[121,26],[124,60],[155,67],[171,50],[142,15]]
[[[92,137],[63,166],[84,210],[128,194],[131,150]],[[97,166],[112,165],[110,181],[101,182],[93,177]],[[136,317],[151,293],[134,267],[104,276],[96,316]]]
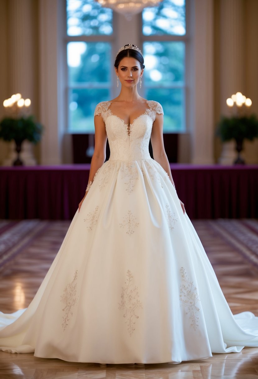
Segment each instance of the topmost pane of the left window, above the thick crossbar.
[[94,0],[67,0],[67,35],[93,36],[113,33],[113,12]]

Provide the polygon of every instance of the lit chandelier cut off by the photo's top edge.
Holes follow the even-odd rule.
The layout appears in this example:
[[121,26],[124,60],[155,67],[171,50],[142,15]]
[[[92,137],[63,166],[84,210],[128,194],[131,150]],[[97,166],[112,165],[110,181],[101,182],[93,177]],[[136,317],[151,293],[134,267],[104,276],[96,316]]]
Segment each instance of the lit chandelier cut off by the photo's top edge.
[[111,8],[113,11],[126,16],[140,13],[147,6],[157,6],[162,0],[96,0],[101,6]]

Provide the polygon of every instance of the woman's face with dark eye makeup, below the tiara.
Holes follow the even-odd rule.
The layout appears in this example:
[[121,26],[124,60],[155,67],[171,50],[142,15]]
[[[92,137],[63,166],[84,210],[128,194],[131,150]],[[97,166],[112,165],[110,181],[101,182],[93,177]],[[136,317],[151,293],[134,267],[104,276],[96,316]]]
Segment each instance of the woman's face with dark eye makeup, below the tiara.
[[115,72],[121,85],[131,88],[139,82],[143,69],[141,70],[140,62],[137,59],[126,56],[120,61],[118,68],[115,68]]

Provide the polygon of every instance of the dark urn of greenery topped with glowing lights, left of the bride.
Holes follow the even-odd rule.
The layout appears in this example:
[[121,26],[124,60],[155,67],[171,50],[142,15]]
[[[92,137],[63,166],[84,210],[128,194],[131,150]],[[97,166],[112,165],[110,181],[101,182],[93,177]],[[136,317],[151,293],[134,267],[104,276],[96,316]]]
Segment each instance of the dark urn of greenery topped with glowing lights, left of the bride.
[[[9,100],[11,100],[11,98],[5,100],[5,102],[8,102]],[[22,142],[27,139],[34,144],[38,143],[41,138],[43,127],[39,122],[34,121],[33,116],[22,115],[22,112],[18,108],[22,108],[22,106],[17,106],[15,105],[15,102],[11,101],[9,101],[9,103],[5,102],[4,106],[11,108],[12,111],[9,112],[11,113],[11,116],[6,116],[0,121],[0,138],[4,141],[11,141],[14,139],[16,143],[17,159],[14,161],[13,165],[21,166],[23,163],[20,160],[19,154],[21,151]],[[19,112],[17,109],[19,109]]]

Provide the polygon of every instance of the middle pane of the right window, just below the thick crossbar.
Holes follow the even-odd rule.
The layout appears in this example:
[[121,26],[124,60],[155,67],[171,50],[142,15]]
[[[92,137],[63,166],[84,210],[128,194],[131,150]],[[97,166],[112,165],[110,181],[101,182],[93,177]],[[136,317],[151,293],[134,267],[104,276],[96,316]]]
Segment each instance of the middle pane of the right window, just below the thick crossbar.
[[184,84],[185,43],[144,42],[144,77],[146,83],[171,86]]

